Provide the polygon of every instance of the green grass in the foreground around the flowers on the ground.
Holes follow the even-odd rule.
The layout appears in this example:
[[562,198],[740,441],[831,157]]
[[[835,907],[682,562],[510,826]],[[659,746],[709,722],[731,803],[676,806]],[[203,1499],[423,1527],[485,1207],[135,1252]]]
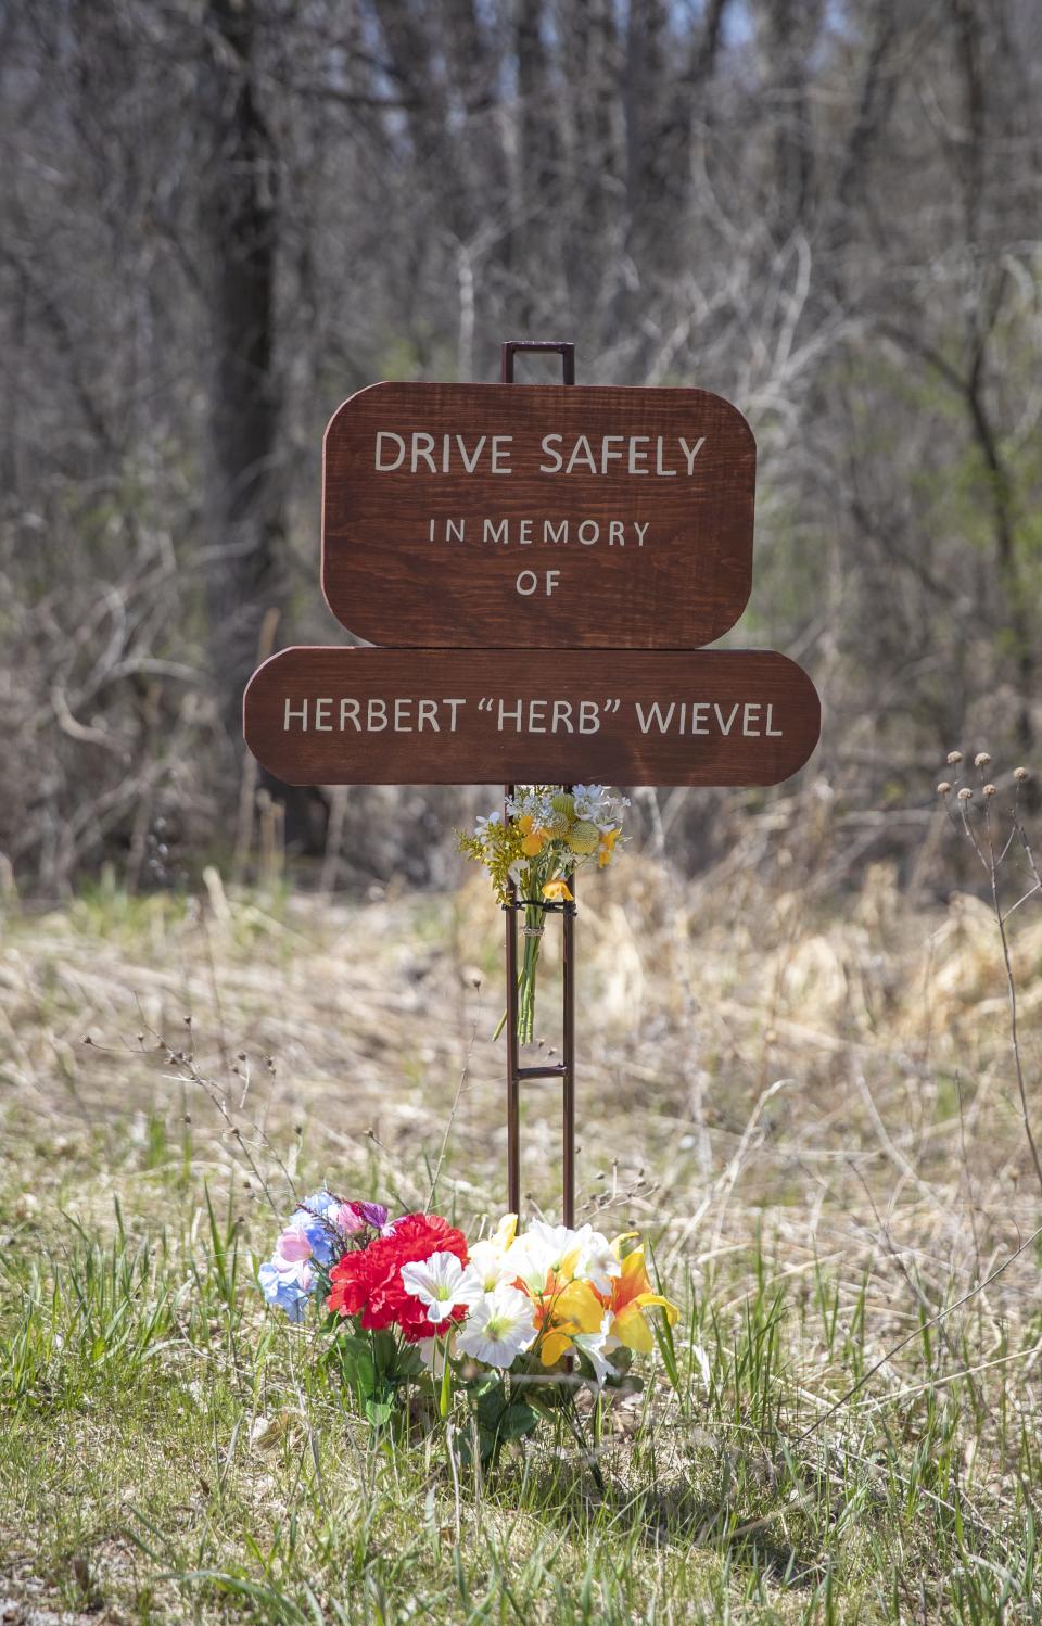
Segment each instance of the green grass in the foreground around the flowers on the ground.
[[[72,1205],[96,1169],[41,1164],[41,1205],[2,1255],[7,1563],[67,1608],[293,1626],[1039,1618],[1039,1442],[1008,1367],[855,1402],[800,1441],[868,1364],[865,1286],[819,1268],[793,1293],[764,1241],[701,1291],[681,1272],[676,1389],[657,1356],[645,1393],[610,1411],[603,1491],[569,1439],[476,1481],[454,1476],[442,1433],[393,1444],[359,1421],[252,1285],[273,1221],[203,1185],[184,1145],[159,1148],[151,1128],[109,1166],[133,1210],[114,1197],[89,1221]],[[920,1377],[969,1363],[927,1332],[918,1356]],[[967,1442],[1001,1452],[1003,1496],[967,1491]]]

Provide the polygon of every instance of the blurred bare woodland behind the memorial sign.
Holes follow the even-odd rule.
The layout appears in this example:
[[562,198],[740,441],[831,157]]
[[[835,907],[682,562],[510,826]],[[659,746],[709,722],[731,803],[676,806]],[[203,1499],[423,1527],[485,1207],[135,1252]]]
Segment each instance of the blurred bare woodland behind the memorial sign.
[[[832,878],[909,867],[951,746],[1031,758],[1034,0],[21,0],[0,130],[8,886],[179,881],[236,831],[249,870],[244,680],[346,639],[323,426],[377,379],[491,379],[504,338],[753,421],[728,642],[823,689]],[[437,881],[468,795],[307,792],[286,834],[330,885]],[[764,806],[792,792],[642,816],[697,867]]]

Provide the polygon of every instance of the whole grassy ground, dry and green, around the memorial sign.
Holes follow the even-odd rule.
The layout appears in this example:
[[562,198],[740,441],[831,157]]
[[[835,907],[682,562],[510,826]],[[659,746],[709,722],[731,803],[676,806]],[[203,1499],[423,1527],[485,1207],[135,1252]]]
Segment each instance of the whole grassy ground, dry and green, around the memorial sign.
[[[923,979],[896,950],[909,1005],[891,1036],[868,1011],[857,1024],[844,985],[827,1008],[808,984],[818,922],[803,959],[779,925],[813,1016],[784,995],[769,925],[727,959],[699,946],[715,982],[692,1063],[676,1006],[645,1010],[650,1044],[598,1003],[611,964],[588,927],[584,1213],[642,1229],[683,1306],[644,1392],[605,1408],[598,1486],[567,1434],[475,1476],[437,1428],[371,1429],[309,1330],[265,1309],[280,1161],[302,1189],[415,1206],[449,1125],[439,1208],[476,1224],[502,1180],[496,998],[465,974],[497,917],[481,935],[465,904],[424,901],[421,956],[439,922],[449,943],[431,963],[411,958],[408,906],[280,911],[232,901],[205,940],[166,899],[8,922],[0,1597],[42,1589],[120,1623],[1042,1619],[1040,1247],[957,1304],[1037,1224],[1001,1029],[987,1037],[987,945],[966,964],[944,959],[969,953],[957,933],[931,950],[967,992],[930,1016],[927,1060],[909,1016]],[[681,940],[645,932],[668,993]],[[860,941],[836,950],[853,980],[875,966]],[[533,1096],[525,1182],[551,1210],[556,1133],[553,1098]],[[592,1442],[592,1411],[582,1426]]]

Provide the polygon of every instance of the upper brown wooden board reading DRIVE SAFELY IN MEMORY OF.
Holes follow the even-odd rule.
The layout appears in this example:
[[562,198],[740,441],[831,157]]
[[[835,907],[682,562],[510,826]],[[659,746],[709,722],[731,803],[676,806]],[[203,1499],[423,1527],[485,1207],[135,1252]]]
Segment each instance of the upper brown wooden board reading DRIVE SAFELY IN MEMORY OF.
[[696,649],[749,597],[754,485],[706,390],[374,384],[325,433],[322,587],[372,644]]

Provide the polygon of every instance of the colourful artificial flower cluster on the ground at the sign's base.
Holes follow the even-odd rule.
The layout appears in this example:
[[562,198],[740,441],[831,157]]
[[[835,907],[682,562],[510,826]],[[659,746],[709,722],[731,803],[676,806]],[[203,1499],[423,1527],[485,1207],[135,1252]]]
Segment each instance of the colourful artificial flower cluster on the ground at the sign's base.
[[312,1302],[325,1311],[327,1364],[372,1424],[408,1416],[410,1390],[441,1418],[462,1395],[484,1462],[554,1413],[577,1433],[577,1389],[639,1387],[629,1363],[655,1340],[676,1371],[678,1309],[653,1291],[636,1233],[610,1242],[538,1220],[519,1233],[506,1215],[468,1244],[441,1215],[389,1220],[380,1203],[320,1190],[297,1203],[258,1280],[294,1322]]

